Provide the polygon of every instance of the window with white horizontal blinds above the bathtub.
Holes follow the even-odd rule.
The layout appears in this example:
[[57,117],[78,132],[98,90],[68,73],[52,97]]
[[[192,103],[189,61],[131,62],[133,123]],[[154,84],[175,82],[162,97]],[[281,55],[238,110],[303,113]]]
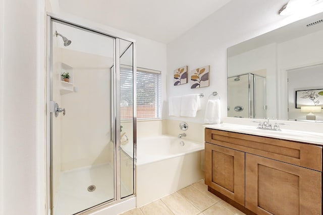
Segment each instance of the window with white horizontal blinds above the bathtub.
[[[132,70],[120,69],[121,119],[132,118]],[[161,118],[161,73],[137,67],[137,119]]]

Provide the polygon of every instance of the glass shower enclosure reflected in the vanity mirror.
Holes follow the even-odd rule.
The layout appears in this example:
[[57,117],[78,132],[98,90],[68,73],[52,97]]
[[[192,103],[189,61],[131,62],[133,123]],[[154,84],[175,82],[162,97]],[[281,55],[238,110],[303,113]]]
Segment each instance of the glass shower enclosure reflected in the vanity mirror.
[[266,118],[266,79],[255,74],[228,78],[228,116]]

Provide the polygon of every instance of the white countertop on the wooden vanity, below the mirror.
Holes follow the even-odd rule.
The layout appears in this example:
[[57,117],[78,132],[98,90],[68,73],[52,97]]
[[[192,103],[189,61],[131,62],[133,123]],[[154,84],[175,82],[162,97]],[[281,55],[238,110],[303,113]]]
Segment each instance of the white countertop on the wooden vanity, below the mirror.
[[265,130],[265,129],[258,129],[257,125],[250,126],[250,125],[230,124],[230,123],[210,124],[210,125],[204,125],[204,127],[238,132],[238,133],[258,135],[258,136],[267,136],[267,137],[273,137],[273,138],[279,138],[279,139],[307,142],[309,144],[323,146],[323,133],[318,133],[318,132],[288,130],[284,128],[282,128],[282,131]]

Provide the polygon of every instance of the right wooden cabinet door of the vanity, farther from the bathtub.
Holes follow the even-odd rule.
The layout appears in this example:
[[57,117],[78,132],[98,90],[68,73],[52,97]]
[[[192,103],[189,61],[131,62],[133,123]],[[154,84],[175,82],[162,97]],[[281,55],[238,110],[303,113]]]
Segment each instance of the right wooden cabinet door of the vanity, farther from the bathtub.
[[245,198],[257,214],[321,214],[321,173],[246,153]]

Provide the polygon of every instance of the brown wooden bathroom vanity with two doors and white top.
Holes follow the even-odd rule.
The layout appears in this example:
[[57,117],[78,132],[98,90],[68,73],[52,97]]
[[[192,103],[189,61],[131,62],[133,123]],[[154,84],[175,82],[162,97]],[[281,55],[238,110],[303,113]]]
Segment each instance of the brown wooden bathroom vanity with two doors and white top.
[[[313,135],[300,134],[302,141],[296,141],[291,133],[258,135],[228,128],[205,128],[205,184],[210,192],[247,214],[321,214],[322,146]],[[288,135],[292,140],[283,137]]]

